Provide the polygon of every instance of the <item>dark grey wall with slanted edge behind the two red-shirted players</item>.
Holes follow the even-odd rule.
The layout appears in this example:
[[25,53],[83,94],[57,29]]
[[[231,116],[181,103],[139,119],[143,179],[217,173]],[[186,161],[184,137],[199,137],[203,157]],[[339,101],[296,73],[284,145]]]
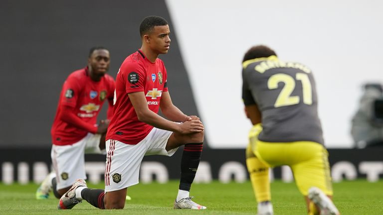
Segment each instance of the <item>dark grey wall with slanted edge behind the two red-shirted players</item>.
[[139,24],[148,15],[163,16],[170,24],[171,50],[160,58],[173,102],[187,114],[198,114],[163,0],[2,0],[0,148],[50,147],[50,126],[66,77],[86,66],[88,50],[96,45],[110,50],[109,74],[116,77],[125,57],[141,47]]

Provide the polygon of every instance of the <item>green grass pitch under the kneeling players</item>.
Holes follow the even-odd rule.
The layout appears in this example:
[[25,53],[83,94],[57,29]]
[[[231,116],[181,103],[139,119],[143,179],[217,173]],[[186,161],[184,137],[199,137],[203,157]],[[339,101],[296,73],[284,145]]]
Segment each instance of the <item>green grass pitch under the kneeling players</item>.
[[[103,184],[88,185],[103,188]],[[48,200],[35,200],[38,185],[0,184],[0,215],[254,215],[256,202],[250,182],[237,184],[193,184],[194,201],[207,207],[205,211],[174,210],[178,182],[139,184],[128,189],[132,200],[124,210],[99,210],[86,201],[72,210],[58,211],[53,194]],[[306,215],[303,197],[294,183],[275,181],[271,184],[275,215]],[[334,184],[334,202],[342,215],[383,215],[383,181],[365,180]]]

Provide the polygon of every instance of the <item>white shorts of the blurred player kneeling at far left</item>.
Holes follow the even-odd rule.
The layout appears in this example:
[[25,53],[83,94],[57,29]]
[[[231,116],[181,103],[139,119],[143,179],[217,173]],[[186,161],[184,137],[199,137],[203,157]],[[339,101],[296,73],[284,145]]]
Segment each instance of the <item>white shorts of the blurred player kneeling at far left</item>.
[[100,139],[101,134],[88,133],[72,145],[52,145],[50,157],[56,173],[57,190],[71,187],[76,179],[86,179],[84,154],[102,154]]

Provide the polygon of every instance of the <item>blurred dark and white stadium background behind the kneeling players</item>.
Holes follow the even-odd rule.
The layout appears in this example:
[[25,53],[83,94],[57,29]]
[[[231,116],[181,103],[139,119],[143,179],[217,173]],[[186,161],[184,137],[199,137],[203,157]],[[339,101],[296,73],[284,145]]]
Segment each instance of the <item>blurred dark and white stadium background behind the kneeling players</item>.
[[[354,149],[349,130],[361,86],[382,82],[382,10],[374,0],[2,0],[0,180],[42,181],[51,166],[50,126],[65,78],[86,66],[88,50],[99,45],[110,50],[109,74],[116,77],[125,57],[140,48],[140,21],[160,15],[172,31],[171,50],[160,56],[172,99],[206,127],[197,182],[248,179],[244,148],[251,125],[241,103],[241,59],[260,43],[314,71],[334,180],[377,181],[383,148]],[[179,156],[146,157],[141,180],[178,178]],[[104,157],[86,159],[89,180],[99,182]],[[292,180],[286,168],[271,177]]]

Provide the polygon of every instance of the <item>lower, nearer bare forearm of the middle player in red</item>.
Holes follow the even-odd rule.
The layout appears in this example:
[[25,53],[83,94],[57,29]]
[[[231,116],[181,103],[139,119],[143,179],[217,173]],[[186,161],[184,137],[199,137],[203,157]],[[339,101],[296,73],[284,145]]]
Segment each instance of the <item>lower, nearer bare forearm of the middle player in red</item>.
[[180,132],[179,123],[165,119],[152,110],[137,113],[137,116],[138,120],[150,124],[156,128]]

